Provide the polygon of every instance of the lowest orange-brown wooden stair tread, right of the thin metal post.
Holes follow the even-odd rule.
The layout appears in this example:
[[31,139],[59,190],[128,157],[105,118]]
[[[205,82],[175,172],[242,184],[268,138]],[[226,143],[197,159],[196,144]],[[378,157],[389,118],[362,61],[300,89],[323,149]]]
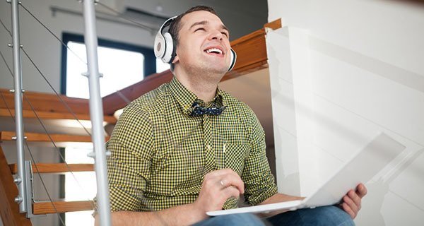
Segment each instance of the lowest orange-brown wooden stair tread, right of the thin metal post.
[[33,203],[33,214],[66,213],[93,210],[93,201],[54,201]]

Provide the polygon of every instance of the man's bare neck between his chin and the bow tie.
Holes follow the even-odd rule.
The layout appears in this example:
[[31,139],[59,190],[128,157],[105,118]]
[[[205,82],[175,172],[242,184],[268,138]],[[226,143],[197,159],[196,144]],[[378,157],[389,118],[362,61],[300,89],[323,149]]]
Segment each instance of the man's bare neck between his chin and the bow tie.
[[205,71],[187,73],[179,68],[175,68],[175,77],[184,85],[185,88],[192,91],[199,99],[209,102],[216,95],[216,88],[223,74],[206,73]]

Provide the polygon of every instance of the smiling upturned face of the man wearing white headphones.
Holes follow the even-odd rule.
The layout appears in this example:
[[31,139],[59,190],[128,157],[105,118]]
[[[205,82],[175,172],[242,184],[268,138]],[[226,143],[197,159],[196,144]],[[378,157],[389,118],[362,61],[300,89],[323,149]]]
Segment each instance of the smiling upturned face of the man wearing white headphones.
[[188,13],[181,19],[175,66],[186,71],[196,69],[206,73],[228,71],[230,41],[223,22],[208,11]]

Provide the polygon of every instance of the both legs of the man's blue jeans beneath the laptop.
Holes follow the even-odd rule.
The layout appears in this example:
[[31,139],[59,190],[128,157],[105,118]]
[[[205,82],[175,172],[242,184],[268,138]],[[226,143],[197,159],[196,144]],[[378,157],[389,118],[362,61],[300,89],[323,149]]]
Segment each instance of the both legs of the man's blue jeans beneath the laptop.
[[259,219],[256,215],[249,213],[221,215],[195,224],[195,226],[212,225],[351,226],[355,225],[355,223],[351,219],[351,216],[340,208],[336,206],[324,206],[313,209],[288,211],[264,219]]

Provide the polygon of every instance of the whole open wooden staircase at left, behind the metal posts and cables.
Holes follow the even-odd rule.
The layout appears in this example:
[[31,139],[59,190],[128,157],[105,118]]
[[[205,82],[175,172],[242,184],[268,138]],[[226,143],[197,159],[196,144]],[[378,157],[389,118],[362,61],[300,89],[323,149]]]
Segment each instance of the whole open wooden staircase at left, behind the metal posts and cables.
[[[17,174],[16,163],[7,162],[2,145],[13,145],[16,142],[14,130],[14,102],[13,93],[1,90],[0,99],[0,213],[4,225],[31,225],[30,219],[25,213],[19,213],[18,204],[14,198],[18,196],[18,189],[13,182],[13,174]],[[62,99],[62,100],[60,100]],[[66,105],[64,105],[64,103]],[[30,103],[30,104],[29,104]],[[12,117],[13,116],[13,117]],[[37,121],[42,121],[49,127],[54,125],[78,124],[78,120],[89,120],[88,100],[71,98],[66,96],[57,97],[45,93],[25,92],[23,98],[24,129],[34,127]],[[104,117],[105,124],[115,124],[117,119],[113,116]],[[11,126],[13,125],[13,126]],[[59,126],[58,126],[59,127]],[[66,126],[59,131],[67,131]],[[40,129],[39,129],[40,130]],[[83,131],[80,129],[80,133]],[[86,133],[86,132],[82,132]],[[64,148],[67,145],[90,145],[91,137],[86,135],[75,135],[69,133],[40,133],[25,132],[25,142],[28,146],[42,145],[49,147]],[[107,141],[109,137],[105,137]],[[16,150],[15,150],[16,151]],[[6,153],[16,155],[16,153]],[[33,173],[37,174],[61,174],[65,172],[93,172],[93,164],[66,164],[66,163],[36,163],[33,164]],[[3,204],[5,203],[5,204]],[[33,201],[33,215],[45,215],[51,213],[66,213],[72,211],[93,210],[93,201]]]

